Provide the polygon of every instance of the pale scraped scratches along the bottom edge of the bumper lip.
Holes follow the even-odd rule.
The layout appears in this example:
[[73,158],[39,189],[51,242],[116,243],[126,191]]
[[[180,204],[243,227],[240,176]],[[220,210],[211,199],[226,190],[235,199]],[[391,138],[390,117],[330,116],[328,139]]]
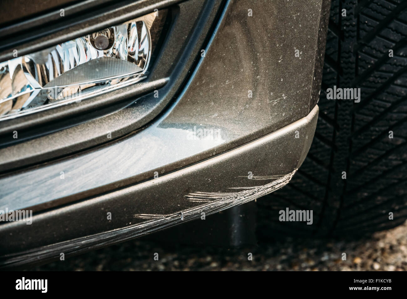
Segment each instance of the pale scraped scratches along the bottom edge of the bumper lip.
[[[296,171],[297,169],[287,175],[284,175],[283,177],[280,177],[279,179],[276,179],[275,181],[272,181],[271,183],[267,183],[262,186],[249,187],[247,190],[241,192],[190,193],[187,195],[190,200],[200,199],[204,202],[206,202],[205,200],[208,200],[208,202],[168,215],[136,214],[134,215],[136,218],[149,220],[119,229],[104,231],[99,234],[3,255],[0,257],[0,268],[8,268],[40,260],[58,258],[61,252],[65,253],[65,256],[69,256],[89,250],[95,250],[116,242],[123,242],[136,237],[151,234],[154,231],[159,231],[184,221],[200,218],[201,212],[205,212],[206,215],[214,214],[230,207],[247,203],[282,188],[283,186],[287,185]],[[206,198],[199,198],[200,196]]]

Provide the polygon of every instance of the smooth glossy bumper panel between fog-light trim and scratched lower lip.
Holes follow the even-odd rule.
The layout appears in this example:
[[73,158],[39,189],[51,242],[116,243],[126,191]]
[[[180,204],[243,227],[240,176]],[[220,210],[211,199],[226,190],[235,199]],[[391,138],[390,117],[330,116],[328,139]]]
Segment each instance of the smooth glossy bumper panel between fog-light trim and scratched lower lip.
[[[255,15],[247,17],[250,2],[232,1],[196,73],[167,113],[135,135],[3,177],[0,207],[35,210],[45,202],[55,201],[51,207],[151,179],[155,171],[162,175],[198,162],[306,116],[318,47],[315,8],[321,7],[314,2],[307,8],[256,2]],[[294,57],[294,48],[300,57]],[[219,130],[220,136],[188,140],[194,128]]]

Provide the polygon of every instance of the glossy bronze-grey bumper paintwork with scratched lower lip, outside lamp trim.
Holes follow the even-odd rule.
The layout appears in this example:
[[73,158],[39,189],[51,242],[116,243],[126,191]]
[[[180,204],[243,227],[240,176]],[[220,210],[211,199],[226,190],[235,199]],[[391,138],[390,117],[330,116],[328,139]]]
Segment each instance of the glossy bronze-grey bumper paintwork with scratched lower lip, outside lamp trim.
[[[238,205],[288,183],[315,131],[327,13],[323,0],[222,2],[194,68],[162,113],[115,140],[0,177],[0,209],[35,213],[33,225],[0,225],[8,244],[0,263],[120,242],[191,220],[200,209],[217,212],[228,207],[225,198]],[[199,130],[210,133],[202,138]],[[106,220],[107,212],[114,218]]]

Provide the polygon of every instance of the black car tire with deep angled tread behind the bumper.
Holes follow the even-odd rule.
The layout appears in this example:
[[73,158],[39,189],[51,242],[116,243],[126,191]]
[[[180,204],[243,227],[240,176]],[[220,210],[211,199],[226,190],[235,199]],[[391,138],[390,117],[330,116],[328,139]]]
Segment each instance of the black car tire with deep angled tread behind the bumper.
[[[319,118],[301,168],[258,199],[261,237],[346,236],[389,229],[407,218],[407,1],[333,0]],[[360,102],[327,89],[360,88]],[[312,210],[313,223],[279,211]]]

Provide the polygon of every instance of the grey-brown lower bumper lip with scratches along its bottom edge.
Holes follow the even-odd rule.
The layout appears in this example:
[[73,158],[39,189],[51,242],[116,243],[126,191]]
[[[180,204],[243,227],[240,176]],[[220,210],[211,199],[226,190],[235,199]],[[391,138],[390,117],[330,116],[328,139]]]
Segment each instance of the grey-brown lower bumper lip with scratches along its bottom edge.
[[[2,250],[0,265],[13,267],[52,260],[60,253],[69,256],[97,249],[273,192],[289,183],[304,161],[317,115],[315,106],[308,116],[232,151],[135,186],[36,214],[32,225],[1,225],[2,241],[9,246]],[[112,220],[107,220],[108,212]],[[73,233],[77,238],[71,237]]]

